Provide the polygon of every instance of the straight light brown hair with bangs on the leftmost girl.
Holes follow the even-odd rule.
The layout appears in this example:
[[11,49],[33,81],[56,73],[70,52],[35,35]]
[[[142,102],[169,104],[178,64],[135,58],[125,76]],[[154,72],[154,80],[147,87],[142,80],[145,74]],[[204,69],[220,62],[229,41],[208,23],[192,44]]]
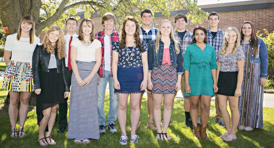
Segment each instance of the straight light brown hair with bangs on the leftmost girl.
[[32,24],[32,28],[29,31],[29,44],[33,44],[34,38],[35,38],[35,21],[34,18],[31,15],[24,15],[22,19],[20,20],[20,23],[17,28],[17,40],[20,40],[21,37],[21,23],[30,23]]

